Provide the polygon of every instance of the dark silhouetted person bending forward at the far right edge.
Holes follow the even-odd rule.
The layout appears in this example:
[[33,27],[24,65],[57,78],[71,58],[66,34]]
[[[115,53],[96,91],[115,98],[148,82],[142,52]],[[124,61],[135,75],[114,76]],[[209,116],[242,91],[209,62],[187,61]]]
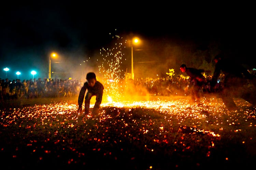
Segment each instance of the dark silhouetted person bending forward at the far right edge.
[[234,61],[225,60],[222,54],[214,57],[215,70],[213,73],[211,86],[215,87],[221,72],[224,74],[223,89],[221,98],[228,109],[236,109],[233,98],[242,98],[255,105],[255,91],[248,87],[249,80],[253,80],[253,75],[241,64]]

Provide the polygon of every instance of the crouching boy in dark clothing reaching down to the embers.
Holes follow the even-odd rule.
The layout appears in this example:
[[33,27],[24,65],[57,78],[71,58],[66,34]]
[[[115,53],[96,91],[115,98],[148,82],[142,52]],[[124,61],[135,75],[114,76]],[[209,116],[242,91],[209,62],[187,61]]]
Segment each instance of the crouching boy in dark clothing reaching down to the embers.
[[103,95],[103,85],[96,80],[96,75],[94,72],[89,72],[86,75],[86,82],[84,83],[84,86],[81,88],[79,97],[78,97],[78,105],[79,108],[77,109],[77,113],[82,113],[82,104],[84,101],[84,95],[87,90],[86,96],[85,96],[85,108],[84,113],[89,114],[89,108],[90,108],[90,100],[91,97],[96,96],[96,102],[93,108],[92,114],[94,116],[99,114],[99,107],[102,101],[102,95]]

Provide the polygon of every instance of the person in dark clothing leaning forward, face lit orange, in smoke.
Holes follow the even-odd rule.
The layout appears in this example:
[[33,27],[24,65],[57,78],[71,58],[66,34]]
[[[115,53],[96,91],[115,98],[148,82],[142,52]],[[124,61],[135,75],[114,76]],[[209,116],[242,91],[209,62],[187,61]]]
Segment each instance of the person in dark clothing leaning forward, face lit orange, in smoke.
[[200,95],[199,91],[204,85],[205,77],[202,75],[202,72],[204,72],[203,69],[196,69],[196,68],[189,68],[185,64],[182,64],[180,66],[181,72],[187,73],[187,75],[190,77],[190,83],[192,84],[191,88],[191,99],[193,102],[200,103]]

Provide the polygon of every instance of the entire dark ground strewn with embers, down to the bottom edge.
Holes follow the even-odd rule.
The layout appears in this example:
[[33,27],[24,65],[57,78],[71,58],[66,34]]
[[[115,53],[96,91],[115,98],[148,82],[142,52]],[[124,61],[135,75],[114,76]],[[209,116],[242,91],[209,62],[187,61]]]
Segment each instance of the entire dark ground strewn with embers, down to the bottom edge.
[[187,97],[152,97],[100,114],[76,113],[77,98],[1,104],[0,156],[7,169],[250,168],[256,158],[255,107],[236,99],[202,105]]

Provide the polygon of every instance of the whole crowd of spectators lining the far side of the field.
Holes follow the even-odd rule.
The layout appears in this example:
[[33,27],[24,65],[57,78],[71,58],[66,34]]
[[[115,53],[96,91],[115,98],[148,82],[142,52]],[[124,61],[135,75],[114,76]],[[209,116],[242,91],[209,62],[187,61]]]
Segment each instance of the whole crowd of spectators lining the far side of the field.
[[[224,75],[219,78],[217,86],[214,89],[211,88],[210,82],[212,75],[206,77],[204,85],[200,92],[214,93],[222,90],[222,79]],[[131,86],[134,92],[139,92],[140,95],[189,95],[191,83],[188,77],[178,75],[176,77],[165,77],[165,78],[145,78],[128,80],[127,86]],[[132,84],[129,84],[132,83]],[[77,79],[47,79],[41,80],[30,79],[23,80],[19,79],[9,80],[0,78],[0,100],[10,99],[29,99],[29,98],[55,98],[55,97],[76,97],[79,95],[81,87],[84,82]]]

